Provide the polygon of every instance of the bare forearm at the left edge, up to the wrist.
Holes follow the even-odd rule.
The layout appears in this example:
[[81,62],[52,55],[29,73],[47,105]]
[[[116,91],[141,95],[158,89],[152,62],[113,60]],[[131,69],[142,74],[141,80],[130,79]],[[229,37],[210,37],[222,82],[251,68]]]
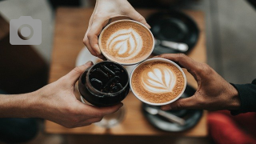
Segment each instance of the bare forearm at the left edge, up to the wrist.
[[0,94],[0,118],[34,117],[35,94]]

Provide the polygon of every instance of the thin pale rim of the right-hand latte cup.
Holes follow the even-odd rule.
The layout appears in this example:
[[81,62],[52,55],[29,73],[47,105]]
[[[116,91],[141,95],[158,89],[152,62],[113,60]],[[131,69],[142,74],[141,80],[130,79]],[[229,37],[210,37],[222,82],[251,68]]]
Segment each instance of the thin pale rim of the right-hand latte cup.
[[[143,63],[145,62],[150,62],[150,61],[162,61],[162,62],[169,62],[171,64],[173,64],[174,66],[176,66],[178,68],[178,70],[180,70],[182,72],[182,75],[183,75],[183,78],[184,78],[184,87],[182,89],[182,92],[180,94],[178,94],[178,96],[168,102],[162,102],[162,103],[153,103],[153,102],[147,102],[146,100],[144,100],[143,98],[140,98],[135,92],[134,92],[134,89],[133,89],[133,86],[132,86],[132,76],[134,74],[134,70],[136,70],[138,68],[138,66],[141,66]],[[135,95],[136,98],[138,98],[140,101],[146,103],[146,104],[149,104],[151,106],[164,106],[164,105],[167,105],[167,104],[170,104],[172,102],[175,102],[176,100],[178,100],[178,98],[180,98],[182,96],[182,94],[184,93],[185,89],[186,89],[186,75],[184,73],[184,71],[182,70],[182,68],[180,66],[178,66],[175,62],[169,60],[169,59],[166,59],[166,58],[150,58],[150,59],[147,59],[146,61],[144,62],[141,62],[140,64],[138,64],[137,66],[134,67],[134,70],[132,70],[131,74],[130,74],[130,90],[133,92],[133,94]]]

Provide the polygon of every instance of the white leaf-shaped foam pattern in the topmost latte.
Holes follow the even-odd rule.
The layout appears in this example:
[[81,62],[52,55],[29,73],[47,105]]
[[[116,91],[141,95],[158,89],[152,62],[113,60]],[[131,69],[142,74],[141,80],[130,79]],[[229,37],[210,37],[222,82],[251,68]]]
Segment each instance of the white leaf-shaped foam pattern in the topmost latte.
[[106,46],[115,57],[132,59],[142,50],[142,38],[132,28],[118,30],[111,34]]

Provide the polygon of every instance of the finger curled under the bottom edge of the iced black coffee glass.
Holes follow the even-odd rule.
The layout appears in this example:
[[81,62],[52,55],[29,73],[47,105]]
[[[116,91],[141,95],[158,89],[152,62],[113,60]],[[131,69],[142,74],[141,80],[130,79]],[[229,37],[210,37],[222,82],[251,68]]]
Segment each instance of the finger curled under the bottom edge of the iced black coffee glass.
[[[87,105],[88,106],[88,105]],[[90,106],[90,108],[86,108],[85,113],[91,115],[92,117],[102,117],[106,114],[113,114],[114,112],[118,111],[123,106],[122,103],[119,103],[115,106],[108,106],[108,107],[97,107],[97,106]]]

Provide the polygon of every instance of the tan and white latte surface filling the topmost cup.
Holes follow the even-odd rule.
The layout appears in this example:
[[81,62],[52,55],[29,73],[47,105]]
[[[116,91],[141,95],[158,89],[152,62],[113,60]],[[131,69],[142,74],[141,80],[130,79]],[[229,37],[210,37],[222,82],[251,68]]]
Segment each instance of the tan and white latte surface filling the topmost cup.
[[154,37],[141,23],[121,20],[102,30],[98,45],[102,54],[111,61],[132,65],[150,56]]

